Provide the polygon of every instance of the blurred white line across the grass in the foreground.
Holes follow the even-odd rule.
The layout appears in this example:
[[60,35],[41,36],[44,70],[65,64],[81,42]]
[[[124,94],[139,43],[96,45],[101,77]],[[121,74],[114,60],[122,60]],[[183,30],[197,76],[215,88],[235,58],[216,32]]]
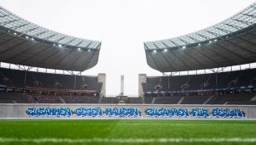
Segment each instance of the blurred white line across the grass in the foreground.
[[256,143],[256,138],[0,138],[0,143]]

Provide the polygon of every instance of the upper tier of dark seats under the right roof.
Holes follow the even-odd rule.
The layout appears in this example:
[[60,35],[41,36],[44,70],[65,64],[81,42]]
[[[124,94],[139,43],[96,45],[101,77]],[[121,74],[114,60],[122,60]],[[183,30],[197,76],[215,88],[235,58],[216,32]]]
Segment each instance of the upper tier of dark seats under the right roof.
[[162,86],[162,89],[159,89],[160,91],[216,89],[256,85],[256,69],[221,72],[218,74],[173,75],[169,78],[168,76],[148,77],[147,83],[143,84],[143,92],[156,91],[157,85]]

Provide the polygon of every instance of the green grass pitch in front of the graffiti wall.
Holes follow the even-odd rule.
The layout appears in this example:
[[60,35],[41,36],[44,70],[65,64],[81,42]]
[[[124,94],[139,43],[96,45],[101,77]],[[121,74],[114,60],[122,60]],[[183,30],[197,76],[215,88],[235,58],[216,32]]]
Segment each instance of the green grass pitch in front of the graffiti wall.
[[256,144],[256,121],[0,120],[0,144]]

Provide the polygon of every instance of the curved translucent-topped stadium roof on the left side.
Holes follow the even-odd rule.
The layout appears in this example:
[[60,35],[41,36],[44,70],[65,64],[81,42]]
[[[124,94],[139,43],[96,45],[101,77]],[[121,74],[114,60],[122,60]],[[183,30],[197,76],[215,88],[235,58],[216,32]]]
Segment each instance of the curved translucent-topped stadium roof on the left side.
[[28,22],[0,7],[0,61],[58,70],[88,70],[100,41],[68,36]]

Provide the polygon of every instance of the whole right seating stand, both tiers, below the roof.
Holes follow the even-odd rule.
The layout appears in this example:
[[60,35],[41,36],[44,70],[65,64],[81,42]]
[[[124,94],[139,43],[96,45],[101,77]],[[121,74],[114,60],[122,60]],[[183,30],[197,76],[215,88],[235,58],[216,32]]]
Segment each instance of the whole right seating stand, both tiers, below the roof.
[[256,104],[256,69],[148,77],[145,104]]

